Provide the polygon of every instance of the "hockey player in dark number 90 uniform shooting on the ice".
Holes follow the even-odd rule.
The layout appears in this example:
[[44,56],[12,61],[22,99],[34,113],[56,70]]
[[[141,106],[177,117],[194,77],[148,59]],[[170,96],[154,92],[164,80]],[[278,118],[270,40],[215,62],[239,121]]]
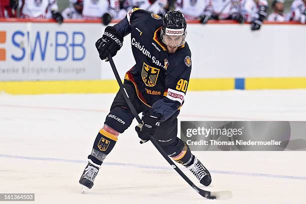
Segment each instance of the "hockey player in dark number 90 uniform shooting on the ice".
[[[191,53],[186,37],[186,21],[180,11],[159,15],[133,8],[114,26],[107,26],[95,43],[99,57],[114,56],[131,34],[131,47],[136,64],[125,74],[124,87],[138,113],[142,127],[135,130],[143,143],[152,135],[176,162],[187,167],[202,183],[209,185],[209,171],[195,157],[177,134],[177,115],[184,101],[190,71]],[[122,93],[117,92],[103,127],[98,132],[88,155],[79,183],[91,188],[105,157],[114,147],[118,135],[127,129],[134,116]]]

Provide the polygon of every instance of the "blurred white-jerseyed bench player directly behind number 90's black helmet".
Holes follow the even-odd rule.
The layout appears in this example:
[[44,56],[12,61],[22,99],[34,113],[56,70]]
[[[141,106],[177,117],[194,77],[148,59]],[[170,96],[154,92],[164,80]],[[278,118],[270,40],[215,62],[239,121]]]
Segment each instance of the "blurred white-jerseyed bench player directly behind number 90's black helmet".
[[175,10],[180,10],[186,20],[200,20],[205,24],[211,16],[211,0],[176,0]]

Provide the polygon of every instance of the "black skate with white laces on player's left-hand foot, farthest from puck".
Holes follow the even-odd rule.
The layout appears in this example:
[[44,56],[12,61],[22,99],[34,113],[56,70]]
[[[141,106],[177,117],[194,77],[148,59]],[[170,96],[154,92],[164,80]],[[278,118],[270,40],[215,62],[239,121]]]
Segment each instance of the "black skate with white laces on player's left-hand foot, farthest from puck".
[[[95,164],[95,163],[91,163],[88,162],[86,168],[83,171],[82,176],[79,179],[79,183],[82,185],[82,192],[86,189],[86,187],[88,189],[90,189],[93,185],[93,180],[97,174],[97,172],[99,171],[99,165]],[[85,187],[85,188],[84,188]]]

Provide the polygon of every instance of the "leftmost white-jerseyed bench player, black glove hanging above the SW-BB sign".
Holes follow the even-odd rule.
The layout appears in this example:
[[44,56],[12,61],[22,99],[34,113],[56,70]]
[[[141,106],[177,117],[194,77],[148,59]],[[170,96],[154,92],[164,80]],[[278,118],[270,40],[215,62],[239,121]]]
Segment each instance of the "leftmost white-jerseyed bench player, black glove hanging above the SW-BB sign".
[[20,18],[46,18],[47,11],[56,22],[62,23],[56,0],[19,0]]

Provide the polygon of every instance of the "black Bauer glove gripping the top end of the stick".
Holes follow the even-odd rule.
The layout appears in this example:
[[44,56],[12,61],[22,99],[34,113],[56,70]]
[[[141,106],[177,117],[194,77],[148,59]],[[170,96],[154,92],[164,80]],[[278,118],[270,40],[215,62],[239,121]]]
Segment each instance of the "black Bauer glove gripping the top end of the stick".
[[95,42],[95,47],[99,52],[100,59],[104,60],[108,54],[111,56],[116,55],[122,43],[123,37],[117,34],[116,29],[112,26],[107,26],[102,37]]

